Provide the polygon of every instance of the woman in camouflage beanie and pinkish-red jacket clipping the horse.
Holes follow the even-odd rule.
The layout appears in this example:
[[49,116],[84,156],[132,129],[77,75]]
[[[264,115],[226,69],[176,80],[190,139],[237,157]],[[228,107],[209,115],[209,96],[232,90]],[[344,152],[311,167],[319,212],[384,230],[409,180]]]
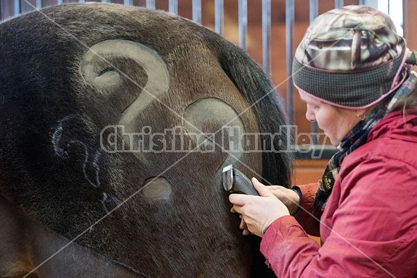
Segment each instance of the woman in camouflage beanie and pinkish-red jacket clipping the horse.
[[[319,183],[252,179],[261,197],[229,197],[278,277],[416,275],[416,52],[405,44],[387,15],[366,6],[331,10],[306,31],[293,80],[307,120],[339,152]],[[321,245],[306,234],[318,229]]]

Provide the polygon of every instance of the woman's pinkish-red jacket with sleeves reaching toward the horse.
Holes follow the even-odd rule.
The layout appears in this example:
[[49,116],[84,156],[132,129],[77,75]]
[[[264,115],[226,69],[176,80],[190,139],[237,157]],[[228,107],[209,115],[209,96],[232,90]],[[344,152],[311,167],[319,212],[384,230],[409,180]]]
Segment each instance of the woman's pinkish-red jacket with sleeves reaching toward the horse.
[[[317,185],[300,188],[309,210]],[[313,234],[318,221],[306,215],[297,219]],[[321,247],[295,218],[284,216],[265,232],[261,252],[279,278],[416,275],[417,111],[391,113],[345,158],[321,217],[320,238]]]

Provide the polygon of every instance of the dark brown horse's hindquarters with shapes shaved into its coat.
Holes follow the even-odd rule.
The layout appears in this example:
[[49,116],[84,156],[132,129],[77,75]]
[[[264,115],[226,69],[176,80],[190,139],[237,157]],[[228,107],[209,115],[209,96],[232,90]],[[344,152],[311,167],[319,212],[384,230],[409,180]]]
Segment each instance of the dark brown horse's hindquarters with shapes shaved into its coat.
[[250,56],[161,10],[67,3],[0,24],[1,277],[268,277],[222,168],[289,186]]

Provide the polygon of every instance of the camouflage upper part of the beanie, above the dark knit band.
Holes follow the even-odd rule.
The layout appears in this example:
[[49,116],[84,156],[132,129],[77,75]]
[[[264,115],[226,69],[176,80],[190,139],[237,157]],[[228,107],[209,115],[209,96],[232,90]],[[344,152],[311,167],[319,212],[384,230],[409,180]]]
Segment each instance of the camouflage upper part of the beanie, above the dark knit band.
[[345,6],[314,20],[295,57],[322,70],[364,70],[392,60],[404,48],[388,15],[368,6]]

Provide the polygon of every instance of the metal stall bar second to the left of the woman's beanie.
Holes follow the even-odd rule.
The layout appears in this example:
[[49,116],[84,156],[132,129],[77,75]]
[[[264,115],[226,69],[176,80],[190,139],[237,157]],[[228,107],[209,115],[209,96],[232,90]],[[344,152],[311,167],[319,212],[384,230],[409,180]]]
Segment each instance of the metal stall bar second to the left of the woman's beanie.
[[271,0],[262,0],[262,67],[270,76]]

